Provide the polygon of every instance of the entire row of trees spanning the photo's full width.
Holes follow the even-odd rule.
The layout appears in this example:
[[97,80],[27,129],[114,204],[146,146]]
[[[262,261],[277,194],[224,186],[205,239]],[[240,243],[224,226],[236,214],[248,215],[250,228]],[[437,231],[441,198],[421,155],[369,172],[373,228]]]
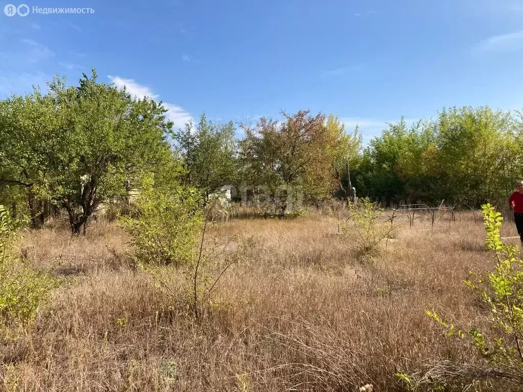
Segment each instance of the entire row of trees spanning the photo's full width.
[[247,184],[278,194],[285,211],[283,199],[352,199],[354,189],[389,205],[504,205],[523,176],[521,116],[488,107],[444,109],[412,126],[402,120],[368,147],[333,114],[282,113],[255,124],[203,115],[174,130],[165,113],[150,98],[98,83],[94,70],[78,86],[57,78],[46,94],[0,101],[0,204],[33,225],[63,209],[77,233],[100,205],[129,203],[145,179],[196,192],[202,206],[224,184]]

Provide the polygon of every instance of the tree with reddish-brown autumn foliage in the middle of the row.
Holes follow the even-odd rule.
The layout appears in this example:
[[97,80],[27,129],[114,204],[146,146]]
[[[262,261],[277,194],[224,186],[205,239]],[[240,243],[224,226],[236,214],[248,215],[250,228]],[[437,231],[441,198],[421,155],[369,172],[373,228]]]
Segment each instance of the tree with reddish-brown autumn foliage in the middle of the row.
[[[261,118],[254,128],[242,126],[241,157],[247,177],[273,194],[301,188],[306,200],[328,197],[334,188],[334,154],[325,116],[312,117],[309,111],[282,114],[282,123]],[[281,207],[285,211],[287,202]]]

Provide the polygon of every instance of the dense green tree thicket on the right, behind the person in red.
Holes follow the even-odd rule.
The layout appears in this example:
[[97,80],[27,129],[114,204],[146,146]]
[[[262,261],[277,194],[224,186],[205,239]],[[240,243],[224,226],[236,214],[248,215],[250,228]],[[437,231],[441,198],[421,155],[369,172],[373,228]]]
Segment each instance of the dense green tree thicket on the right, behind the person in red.
[[521,114],[488,107],[444,109],[410,128],[391,124],[359,156],[360,194],[384,203],[506,205],[523,175]]

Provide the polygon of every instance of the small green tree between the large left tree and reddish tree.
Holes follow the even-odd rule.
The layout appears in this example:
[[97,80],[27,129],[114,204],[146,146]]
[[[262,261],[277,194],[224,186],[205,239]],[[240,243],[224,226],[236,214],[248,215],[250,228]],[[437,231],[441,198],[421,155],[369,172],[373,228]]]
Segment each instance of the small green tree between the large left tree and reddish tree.
[[207,203],[212,192],[225,182],[236,180],[236,141],[234,125],[213,124],[205,114],[196,129],[186,124],[176,135],[186,168],[186,181],[199,189]]

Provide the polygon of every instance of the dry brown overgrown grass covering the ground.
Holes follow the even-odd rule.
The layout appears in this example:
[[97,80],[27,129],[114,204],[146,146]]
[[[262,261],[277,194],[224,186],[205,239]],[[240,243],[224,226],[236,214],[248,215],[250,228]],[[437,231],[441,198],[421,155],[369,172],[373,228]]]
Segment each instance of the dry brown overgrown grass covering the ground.
[[[217,271],[238,243],[241,257],[198,321],[181,269],[155,284],[126,256],[115,223],[78,238],[50,226],[25,233],[20,254],[62,284],[32,327],[2,336],[5,390],[400,391],[397,371],[476,361],[425,315],[485,322],[462,283],[493,266],[471,213],[402,225],[366,257],[327,214],[212,224]],[[512,224],[503,235],[515,235]]]

